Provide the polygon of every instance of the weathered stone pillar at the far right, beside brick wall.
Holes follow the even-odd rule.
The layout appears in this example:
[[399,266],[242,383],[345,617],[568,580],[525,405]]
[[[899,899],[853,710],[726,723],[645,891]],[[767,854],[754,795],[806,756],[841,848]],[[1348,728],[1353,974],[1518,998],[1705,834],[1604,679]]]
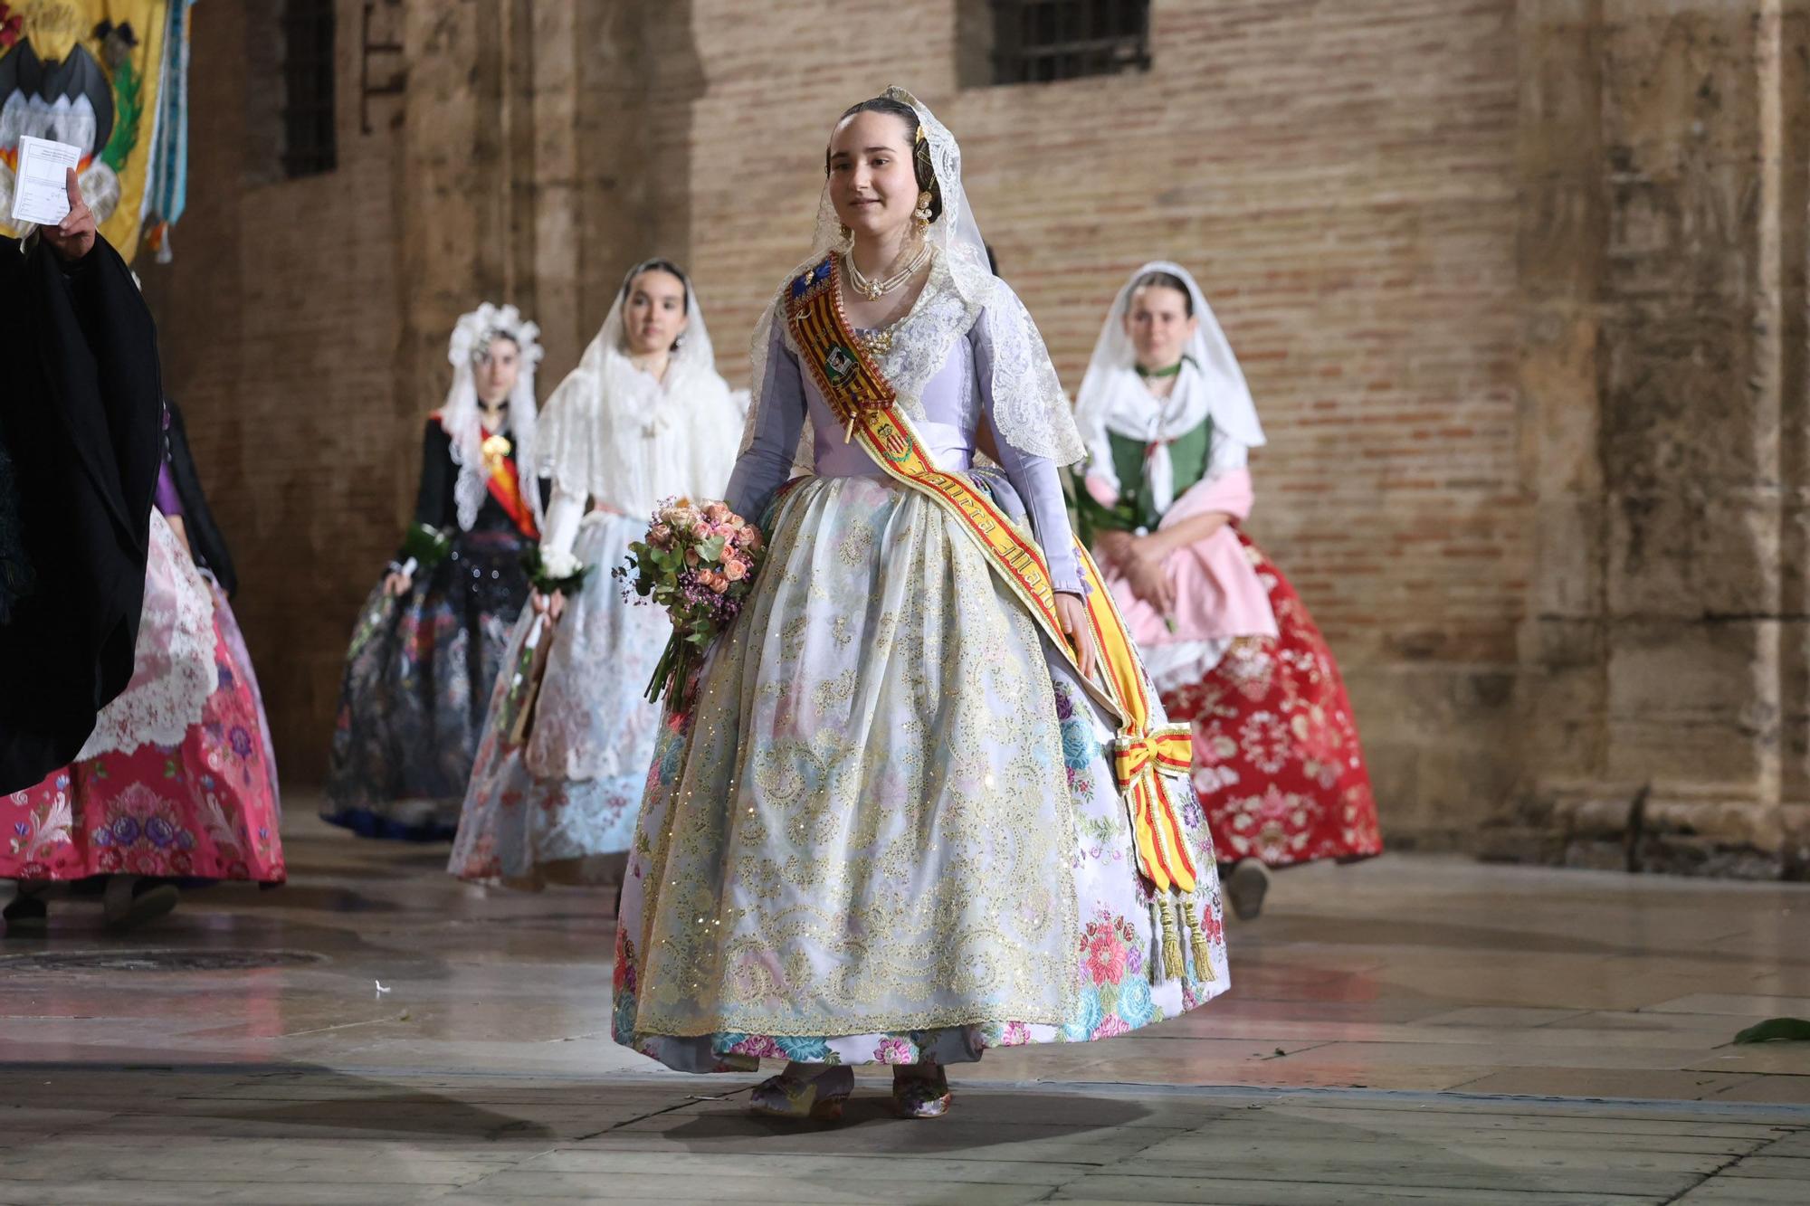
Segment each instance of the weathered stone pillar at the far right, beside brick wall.
[[1803,480],[1803,11],[1520,5],[1538,554],[1519,820],[1548,857],[1792,867],[1786,817],[1810,799],[1805,590],[1785,574],[1805,572],[1803,505],[1783,478]]

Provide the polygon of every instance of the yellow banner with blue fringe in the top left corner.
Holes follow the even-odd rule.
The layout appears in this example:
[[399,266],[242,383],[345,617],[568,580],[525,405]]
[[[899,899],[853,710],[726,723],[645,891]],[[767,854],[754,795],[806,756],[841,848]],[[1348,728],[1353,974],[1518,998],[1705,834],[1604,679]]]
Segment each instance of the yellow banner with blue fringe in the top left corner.
[[0,230],[18,136],[81,150],[76,177],[101,234],[138,250],[170,0],[0,0]]

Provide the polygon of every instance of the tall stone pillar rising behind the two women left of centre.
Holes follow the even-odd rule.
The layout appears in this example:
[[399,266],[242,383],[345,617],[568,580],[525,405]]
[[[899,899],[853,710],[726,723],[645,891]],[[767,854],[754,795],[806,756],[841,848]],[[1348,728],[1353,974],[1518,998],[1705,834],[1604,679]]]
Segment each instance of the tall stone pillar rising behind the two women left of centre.
[[[402,125],[398,471],[447,382],[445,340],[478,301],[541,326],[541,398],[577,364],[641,255],[682,255],[688,152],[657,152],[650,31],[681,65],[690,4],[407,0]],[[672,71],[672,63],[664,71]],[[677,170],[675,170],[677,168]],[[407,485],[413,491],[413,485]],[[405,505],[398,485],[398,505]],[[413,494],[409,493],[409,498]]]

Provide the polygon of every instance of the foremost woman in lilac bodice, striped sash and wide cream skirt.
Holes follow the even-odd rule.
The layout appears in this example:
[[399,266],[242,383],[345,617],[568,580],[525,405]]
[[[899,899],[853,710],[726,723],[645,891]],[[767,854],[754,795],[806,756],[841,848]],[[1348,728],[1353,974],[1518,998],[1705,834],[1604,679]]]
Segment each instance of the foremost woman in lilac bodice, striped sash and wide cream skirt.
[[[1171,728],[1088,596],[1057,476],[1082,444],[954,139],[891,89],[825,168],[728,491],[767,558],[655,755],[614,1034],[690,1072],[787,1059],[753,1099],[782,1117],[838,1117],[849,1065],[891,1063],[900,1114],[934,1117],[948,1063],[1224,992],[1218,884],[1186,779],[1157,786]],[[972,469],[983,433],[1003,474]],[[782,487],[805,440],[814,476]],[[1133,795],[1186,876],[1144,875]]]

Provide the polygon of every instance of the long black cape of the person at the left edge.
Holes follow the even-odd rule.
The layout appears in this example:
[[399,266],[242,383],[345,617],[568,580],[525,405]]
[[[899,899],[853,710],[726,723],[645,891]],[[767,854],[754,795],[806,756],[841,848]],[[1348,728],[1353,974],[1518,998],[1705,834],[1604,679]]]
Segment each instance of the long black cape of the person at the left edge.
[[0,522],[14,518],[27,583],[0,623],[0,791],[16,791],[74,761],[132,679],[163,380],[150,311],[105,239],[76,264],[0,239]]

